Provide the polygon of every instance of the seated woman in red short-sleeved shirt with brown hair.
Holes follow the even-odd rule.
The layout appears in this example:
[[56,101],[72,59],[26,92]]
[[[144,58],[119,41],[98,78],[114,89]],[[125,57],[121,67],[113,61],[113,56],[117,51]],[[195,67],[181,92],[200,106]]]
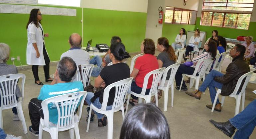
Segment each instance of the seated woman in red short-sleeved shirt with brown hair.
[[[141,42],[140,50],[142,53],[144,53],[143,56],[138,57],[134,68],[131,73],[131,77],[135,79],[135,81],[131,84],[131,91],[137,94],[140,94],[142,91],[143,83],[144,83],[144,77],[147,73],[150,71],[158,69],[158,62],[157,58],[154,56],[155,54],[155,42],[152,39],[144,39]],[[146,89],[146,95],[149,94],[151,85],[153,81],[153,76],[149,77],[148,85]],[[138,97],[131,95],[133,99],[129,100],[129,103],[134,106],[138,104]],[[124,108],[126,109],[126,108]]]

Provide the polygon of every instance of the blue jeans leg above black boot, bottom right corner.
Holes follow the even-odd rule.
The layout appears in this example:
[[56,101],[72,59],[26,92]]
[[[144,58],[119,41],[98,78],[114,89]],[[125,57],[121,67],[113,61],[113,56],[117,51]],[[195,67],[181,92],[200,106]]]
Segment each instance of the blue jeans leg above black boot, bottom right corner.
[[256,126],[256,99],[229,122],[237,129],[234,139],[249,139]]

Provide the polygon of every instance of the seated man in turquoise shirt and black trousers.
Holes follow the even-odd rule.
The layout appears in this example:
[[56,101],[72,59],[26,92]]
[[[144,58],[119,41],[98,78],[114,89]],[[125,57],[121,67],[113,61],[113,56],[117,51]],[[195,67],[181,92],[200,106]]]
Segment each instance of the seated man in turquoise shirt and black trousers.
[[[51,85],[44,85],[40,90],[38,98],[33,98],[30,100],[29,117],[32,124],[29,126],[30,133],[35,136],[39,135],[40,118],[44,118],[44,113],[41,106],[43,100],[66,93],[83,91],[83,84],[81,81],[70,82],[75,72],[75,62],[70,57],[63,57],[57,66],[54,80],[52,81]],[[49,120],[54,124],[58,123],[57,109],[54,112],[49,112]]]

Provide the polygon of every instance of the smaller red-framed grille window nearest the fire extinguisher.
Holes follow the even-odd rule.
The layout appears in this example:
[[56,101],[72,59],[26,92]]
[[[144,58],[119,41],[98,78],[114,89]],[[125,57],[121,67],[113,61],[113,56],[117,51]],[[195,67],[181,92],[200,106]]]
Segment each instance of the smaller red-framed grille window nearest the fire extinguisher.
[[195,24],[197,11],[166,7],[165,23]]

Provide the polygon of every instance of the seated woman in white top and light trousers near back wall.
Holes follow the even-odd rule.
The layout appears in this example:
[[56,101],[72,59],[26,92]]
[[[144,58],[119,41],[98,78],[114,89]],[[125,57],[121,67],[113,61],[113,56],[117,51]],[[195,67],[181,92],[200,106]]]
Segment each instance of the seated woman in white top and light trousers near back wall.
[[180,30],[180,34],[178,34],[175,38],[175,42],[172,44],[172,47],[174,49],[174,51],[176,49],[180,49],[184,47],[184,42],[186,40],[186,30],[184,28],[181,28]]

